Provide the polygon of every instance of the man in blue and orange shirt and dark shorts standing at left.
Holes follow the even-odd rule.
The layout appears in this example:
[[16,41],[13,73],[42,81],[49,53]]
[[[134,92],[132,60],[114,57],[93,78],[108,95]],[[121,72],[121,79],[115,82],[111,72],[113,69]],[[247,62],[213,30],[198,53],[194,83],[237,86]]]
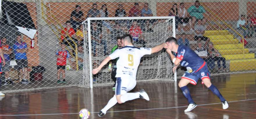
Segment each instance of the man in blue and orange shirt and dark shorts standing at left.
[[26,53],[29,51],[27,44],[25,42],[22,42],[21,35],[17,35],[16,37],[17,42],[13,45],[15,60],[17,65],[15,66],[15,69],[19,71],[21,83],[28,84],[28,59]]

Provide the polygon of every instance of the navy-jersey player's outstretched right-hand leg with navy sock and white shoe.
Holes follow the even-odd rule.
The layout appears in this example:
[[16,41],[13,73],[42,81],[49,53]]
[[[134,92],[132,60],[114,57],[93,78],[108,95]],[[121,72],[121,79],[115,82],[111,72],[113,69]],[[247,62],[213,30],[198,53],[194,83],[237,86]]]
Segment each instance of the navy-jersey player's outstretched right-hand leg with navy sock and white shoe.
[[223,96],[221,95],[220,91],[217,89],[217,87],[215,87],[213,84],[211,84],[211,81],[209,78],[204,78],[203,82],[205,84],[205,86],[210,89],[215,95],[218,96],[218,98],[220,98],[221,102],[222,102],[222,108],[223,109],[227,109],[228,108],[228,103],[225,100],[225,98],[223,98]]

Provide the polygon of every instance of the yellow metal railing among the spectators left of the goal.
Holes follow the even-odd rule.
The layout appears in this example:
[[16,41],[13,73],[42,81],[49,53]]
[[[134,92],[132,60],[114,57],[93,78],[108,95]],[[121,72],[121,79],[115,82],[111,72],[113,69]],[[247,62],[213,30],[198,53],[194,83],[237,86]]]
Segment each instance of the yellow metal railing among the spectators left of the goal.
[[[45,14],[44,13],[44,8],[43,8],[43,6],[46,8],[46,10],[49,10],[50,11],[50,8],[48,7],[48,6],[46,6],[44,3],[43,3],[43,1],[41,2],[41,8],[42,8],[42,18],[45,20],[45,22],[47,23],[47,21],[46,21],[46,19],[45,19],[45,15],[47,16],[47,14]],[[49,16],[48,16],[48,18],[49,18]],[[47,18],[47,19],[48,19]],[[61,27],[61,29],[64,29],[63,28],[63,26],[60,24],[60,23],[58,23],[58,21],[57,21],[57,19],[56,19],[56,17],[54,16],[54,15],[52,15],[51,14],[51,18],[53,18],[56,22],[57,22],[57,24]],[[51,21],[51,19],[48,19],[49,21]],[[51,25],[49,24],[49,27],[51,28],[51,30],[53,31],[53,33],[58,37],[58,39],[62,42],[62,40],[60,39],[60,37],[58,36],[58,33],[56,33],[54,30],[53,30],[53,28],[51,27]],[[57,31],[58,31],[58,27],[55,25],[55,28],[57,29]],[[64,40],[69,44],[69,46],[75,51],[75,53],[76,53],[76,56],[75,56],[75,59],[76,59],[76,68],[77,68],[77,70],[79,70],[79,67],[78,67],[78,57],[77,57],[77,43],[76,42],[74,42],[74,40],[72,39],[72,37],[68,34],[68,37],[70,38],[70,40],[73,42],[73,44],[75,45],[75,48],[73,48],[73,46],[67,41],[67,39],[64,37]],[[70,52],[70,51],[69,51]],[[74,57],[73,56],[73,53],[72,52],[70,52],[70,54],[72,55],[72,57]]]

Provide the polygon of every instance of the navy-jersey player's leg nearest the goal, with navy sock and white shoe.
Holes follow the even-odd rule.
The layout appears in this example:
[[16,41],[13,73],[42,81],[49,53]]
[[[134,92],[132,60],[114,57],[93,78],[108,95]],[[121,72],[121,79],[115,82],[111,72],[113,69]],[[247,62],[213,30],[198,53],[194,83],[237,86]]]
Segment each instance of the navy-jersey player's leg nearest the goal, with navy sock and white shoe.
[[185,78],[182,78],[179,81],[179,88],[182,90],[183,95],[187,98],[187,100],[189,102],[189,106],[187,109],[184,110],[184,112],[191,111],[192,109],[194,109],[197,106],[197,104],[195,104],[195,102],[191,98],[189,88],[187,87],[187,84],[189,84],[190,82],[191,82],[190,80],[187,80]]

